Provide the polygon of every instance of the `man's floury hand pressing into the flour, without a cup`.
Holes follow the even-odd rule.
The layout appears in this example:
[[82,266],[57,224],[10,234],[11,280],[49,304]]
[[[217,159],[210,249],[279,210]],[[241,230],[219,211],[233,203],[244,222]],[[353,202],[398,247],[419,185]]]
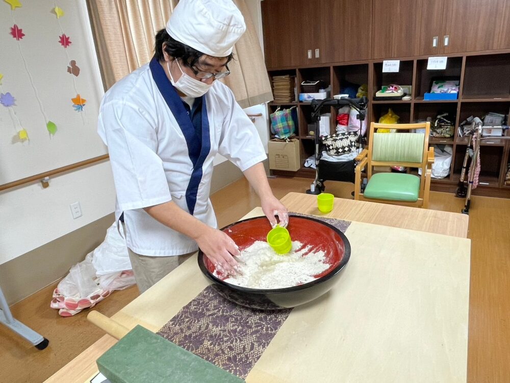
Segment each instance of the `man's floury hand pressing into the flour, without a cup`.
[[207,228],[194,237],[198,247],[213,262],[220,271],[228,274],[235,274],[235,267],[238,265],[233,255],[240,254],[234,240],[224,232]]

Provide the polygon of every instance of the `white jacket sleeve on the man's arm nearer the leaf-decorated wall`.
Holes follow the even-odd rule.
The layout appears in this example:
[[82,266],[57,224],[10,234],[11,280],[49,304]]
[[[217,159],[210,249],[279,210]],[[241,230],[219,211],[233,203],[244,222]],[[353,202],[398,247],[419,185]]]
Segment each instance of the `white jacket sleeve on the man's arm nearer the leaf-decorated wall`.
[[170,201],[170,190],[157,154],[156,122],[142,108],[121,101],[101,105],[98,133],[108,146],[120,209]]

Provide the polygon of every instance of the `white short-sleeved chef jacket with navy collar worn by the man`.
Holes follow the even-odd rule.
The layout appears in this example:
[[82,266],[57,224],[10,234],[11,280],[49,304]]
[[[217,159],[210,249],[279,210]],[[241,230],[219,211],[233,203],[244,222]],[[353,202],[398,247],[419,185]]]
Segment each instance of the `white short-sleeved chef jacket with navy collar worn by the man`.
[[[174,201],[189,212],[186,190],[193,172],[185,134],[160,91],[161,86],[173,86],[166,75],[162,78],[164,70],[156,64],[161,70],[159,78],[146,64],[106,92],[99,110],[98,133],[108,146],[117,192],[115,220],[118,222],[124,213],[127,247],[142,255],[180,255],[196,251],[196,242],[159,223],[143,209]],[[210,150],[201,166],[193,216],[216,228],[209,200],[216,153],[243,172],[265,160],[266,153],[256,129],[226,85],[215,81],[203,101]],[[205,128],[202,121],[202,137]]]

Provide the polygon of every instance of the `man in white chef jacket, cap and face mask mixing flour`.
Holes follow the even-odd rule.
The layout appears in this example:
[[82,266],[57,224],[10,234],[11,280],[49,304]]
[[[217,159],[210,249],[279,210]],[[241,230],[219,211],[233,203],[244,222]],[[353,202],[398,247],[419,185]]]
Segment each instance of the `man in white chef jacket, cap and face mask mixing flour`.
[[181,0],[156,35],[155,57],[117,82],[101,102],[98,132],[108,145],[116,221],[140,292],[198,247],[234,272],[234,241],[216,229],[209,200],[213,159],[244,173],[272,226],[288,213],[272,194],[266,153],[250,119],[220,81],[244,33],[232,0]]

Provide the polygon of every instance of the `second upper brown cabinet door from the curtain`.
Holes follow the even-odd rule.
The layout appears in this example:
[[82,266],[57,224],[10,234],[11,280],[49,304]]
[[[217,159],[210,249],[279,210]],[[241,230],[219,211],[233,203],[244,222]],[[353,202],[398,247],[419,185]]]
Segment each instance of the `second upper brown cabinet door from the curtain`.
[[372,0],[321,0],[320,3],[320,62],[370,59]]

